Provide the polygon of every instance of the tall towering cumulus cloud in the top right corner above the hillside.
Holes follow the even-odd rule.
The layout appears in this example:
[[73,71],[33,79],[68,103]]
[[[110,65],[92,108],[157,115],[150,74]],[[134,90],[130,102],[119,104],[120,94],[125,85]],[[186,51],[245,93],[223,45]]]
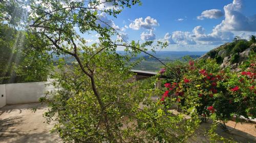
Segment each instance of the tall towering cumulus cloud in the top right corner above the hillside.
[[247,17],[241,13],[242,0],[233,0],[224,6],[225,19],[215,27],[216,31],[256,31],[256,14]]

